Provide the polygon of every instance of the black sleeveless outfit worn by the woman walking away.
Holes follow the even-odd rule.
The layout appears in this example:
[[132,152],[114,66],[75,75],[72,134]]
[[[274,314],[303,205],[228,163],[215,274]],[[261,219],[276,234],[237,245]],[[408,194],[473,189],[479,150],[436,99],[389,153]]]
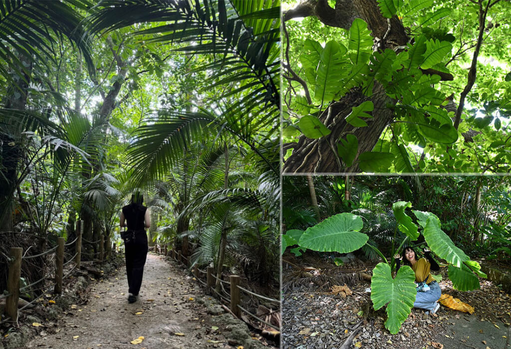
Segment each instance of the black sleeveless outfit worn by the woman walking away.
[[142,276],[144,275],[144,265],[146,264],[148,251],[144,224],[146,211],[146,206],[136,203],[123,207],[124,218],[128,226],[128,236],[131,237],[124,242],[128,292],[135,296],[138,295],[142,285]]

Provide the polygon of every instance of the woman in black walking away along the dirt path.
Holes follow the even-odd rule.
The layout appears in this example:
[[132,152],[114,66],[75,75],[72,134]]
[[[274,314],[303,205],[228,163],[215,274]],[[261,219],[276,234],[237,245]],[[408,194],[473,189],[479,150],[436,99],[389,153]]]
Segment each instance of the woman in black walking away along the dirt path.
[[135,192],[131,195],[130,204],[124,206],[121,212],[121,227],[128,227],[121,236],[125,246],[129,303],[136,301],[140,291],[148,250],[145,228],[151,226],[151,217],[149,210],[142,202],[142,193]]

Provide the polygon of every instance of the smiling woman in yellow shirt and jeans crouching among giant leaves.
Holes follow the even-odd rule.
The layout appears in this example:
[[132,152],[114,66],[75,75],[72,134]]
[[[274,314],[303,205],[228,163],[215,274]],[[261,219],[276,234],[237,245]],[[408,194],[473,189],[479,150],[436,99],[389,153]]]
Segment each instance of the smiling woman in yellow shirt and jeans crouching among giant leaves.
[[401,258],[399,254],[394,255],[394,259],[396,259],[397,270],[400,268],[400,262],[403,261],[403,264],[406,264],[412,268],[415,272],[415,282],[416,283],[425,283],[428,285],[425,289],[420,286],[417,288],[417,295],[415,297],[415,303],[413,306],[415,308],[426,309],[431,314],[435,314],[440,305],[438,304],[438,299],[440,299],[440,295],[442,295],[442,291],[440,291],[440,286],[435,281],[433,276],[431,276],[430,270],[440,270],[440,267],[435,262],[435,260],[431,257],[431,251],[425,248],[424,256],[426,258],[421,258],[417,260],[417,254],[413,250],[412,247],[405,247],[403,249],[403,257]]

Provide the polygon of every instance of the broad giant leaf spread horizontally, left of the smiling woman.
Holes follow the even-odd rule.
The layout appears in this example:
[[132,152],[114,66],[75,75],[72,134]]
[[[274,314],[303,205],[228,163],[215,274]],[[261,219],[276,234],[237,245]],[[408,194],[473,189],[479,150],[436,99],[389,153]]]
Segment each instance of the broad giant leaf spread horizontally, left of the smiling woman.
[[365,245],[369,237],[362,234],[360,216],[340,213],[307,228],[298,244],[320,252],[348,253]]

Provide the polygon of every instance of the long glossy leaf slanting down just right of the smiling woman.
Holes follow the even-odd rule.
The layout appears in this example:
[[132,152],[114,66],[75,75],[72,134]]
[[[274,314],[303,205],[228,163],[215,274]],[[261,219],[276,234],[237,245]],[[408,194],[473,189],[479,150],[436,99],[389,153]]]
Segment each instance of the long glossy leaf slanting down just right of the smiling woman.
[[[448,263],[460,267],[464,261],[470,261],[468,255],[456,247],[451,238],[440,228],[440,220],[430,212],[413,211],[417,221],[424,227],[424,239],[438,257],[445,259]],[[424,219],[426,218],[426,223]]]

